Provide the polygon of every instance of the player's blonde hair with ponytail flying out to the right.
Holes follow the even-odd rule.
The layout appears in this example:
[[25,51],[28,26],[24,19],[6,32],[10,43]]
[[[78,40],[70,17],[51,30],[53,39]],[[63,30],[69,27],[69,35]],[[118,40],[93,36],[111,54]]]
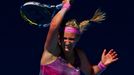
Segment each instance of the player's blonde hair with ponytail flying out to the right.
[[106,13],[102,12],[100,9],[97,9],[93,15],[93,17],[89,20],[84,20],[78,23],[75,19],[72,19],[66,23],[66,26],[71,26],[80,30],[81,34],[87,30],[87,26],[91,24],[91,22],[101,23],[105,20]]

